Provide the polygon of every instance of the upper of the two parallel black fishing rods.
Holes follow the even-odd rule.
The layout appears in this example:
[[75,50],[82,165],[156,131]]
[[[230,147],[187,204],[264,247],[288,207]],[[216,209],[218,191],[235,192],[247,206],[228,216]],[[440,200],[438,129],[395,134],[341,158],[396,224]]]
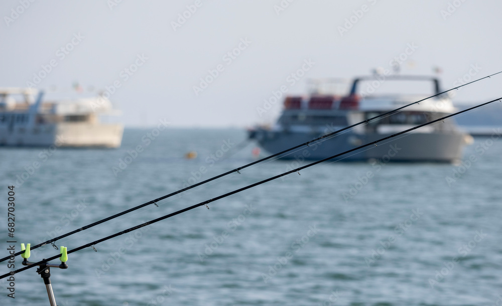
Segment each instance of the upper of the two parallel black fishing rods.
[[[148,206],[148,205],[151,205],[151,204],[155,204],[156,206],[158,206],[158,205],[157,205],[157,202],[159,202],[159,201],[161,201],[161,200],[164,200],[164,199],[166,199],[166,198],[169,198],[169,197],[171,197],[171,196],[174,196],[174,195],[176,195],[176,194],[182,193],[182,192],[187,191],[187,190],[189,190],[189,189],[192,189],[192,188],[195,188],[195,187],[197,187],[197,186],[200,186],[200,185],[206,184],[206,183],[208,183],[208,182],[214,181],[214,180],[216,180],[216,179],[218,179],[218,178],[221,178],[221,177],[223,177],[223,176],[226,176],[226,175],[231,174],[231,173],[234,173],[234,172],[237,172],[237,173],[239,173],[239,174],[240,174],[240,172],[239,172],[240,170],[245,169],[245,168],[250,167],[250,166],[253,166],[253,165],[255,165],[255,164],[261,163],[261,162],[263,162],[263,161],[265,161],[265,160],[268,160],[268,159],[274,158],[274,157],[276,157],[276,156],[279,156],[279,155],[284,154],[284,153],[287,153],[287,152],[289,152],[289,151],[292,151],[292,150],[295,150],[295,149],[301,148],[301,147],[303,147],[303,146],[308,146],[310,143],[313,143],[313,142],[316,142],[316,141],[318,141],[318,140],[321,140],[321,139],[324,139],[324,138],[327,138],[327,137],[333,136],[333,135],[335,135],[335,134],[338,134],[338,133],[340,133],[340,132],[346,131],[346,130],[348,130],[348,129],[351,129],[351,128],[353,128],[353,127],[356,127],[356,126],[358,126],[358,125],[361,125],[361,124],[363,124],[363,123],[368,123],[368,122],[369,122],[369,121],[371,121],[371,120],[378,119],[378,118],[380,118],[380,117],[383,117],[383,116],[387,116],[387,115],[390,115],[390,114],[396,113],[396,112],[398,112],[398,111],[400,111],[400,110],[402,110],[402,109],[404,109],[404,108],[410,107],[410,106],[412,106],[412,105],[414,105],[414,104],[419,104],[419,103],[420,103],[420,102],[422,102],[422,101],[425,101],[425,100],[428,100],[428,99],[431,99],[431,98],[435,98],[435,97],[437,97],[437,96],[440,96],[440,95],[446,94],[446,93],[448,93],[448,92],[450,92],[450,91],[452,91],[452,90],[455,90],[455,89],[456,89],[456,90],[458,90],[458,89],[459,89],[459,88],[461,88],[461,87],[467,86],[467,85],[469,85],[469,84],[472,84],[472,83],[475,83],[475,82],[478,82],[478,81],[481,81],[481,80],[484,80],[484,79],[487,79],[487,78],[491,78],[491,77],[493,77],[493,76],[495,76],[495,75],[498,75],[498,74],[500,74],[500,73],[502,73],[502,71],[499,71],[499,72],[494,73],[494,74],[491,74],[491,75],[489,75],[489,76],[486,76],[486,77],[483,77],[483,78],[480,78],[480,79],[477,79],[477,80],[471,81],[471,82],[469,82],[469,83],[465,83],[465,84],[463,84],[463,85],[460,85],[460,86],[457,86],[457,87],[454,87],[454,88],[451,88],[451,89],[449,89],[449,90],[446,90],[446,91],[443,91],[443,92],[441,92],[441,93],[435,94],[435,95],[433,95],[433,96],[430,96],[430,97],[424,98],[424,99],[422,99],[422,100],[419,100],[419,101],[416,101],[416,102],[413,102],[413,103],[407,104],[407,105],[405,105],[405,106],[402,106],[402,107],[399,107],[399,108],[397,108],[397,109],[394,109],[394,110],[388,111],[388,112],[386,112],[386,113],[383,113],[383,114],[380,114],[380,115],[376,115],[376,116],[374,116],[374,117],[372,117],[372,118],[369,118],[369,119],[366,119],[366,120],[364,120],[364,121],[361,121],[361,122],[355,123],[355,124],[353,124],[353,125],[347,126],[347,127],[345,127],[345,128],[339,129],[339,130],[334,131],[334,132],[331,132],[331,133],[329,133],[329,134],[326,134],[326,135],[320,136],[320,137],[318,137],[318,138],[316,138],[316,139],[313,139],[313,140],[307,141],[307,142],[305,142],[305,143],[299,144],[299,145],[294,146],[294,147],[292,147],[292,148],[286,149],[286,150],[284,150],[284,151],[282,151],[282,152],[279,152],[279,153],[276,153],[276,154],[272,154],[272,155],[270,155],[270,156],[268,156],[268,157],[262,158],[262,159],[260,159],[260,160],[257,160],[257,161],[251,162],[251,163],[248,163],[248,164],[246,164],[246,165],[244,165],[244,166],[241,166],[241,167],[235,168],[235,169],[233,169],[233,170],[227,171],[227,172],[222,173],[222,174],[220,174],[220,175],[216,175],[216,176],[214,176],[214,177],[211,177],[211,178],[206,179],[206,180],[204,180],[204,181],[201,181],[201,182],[199,182],[199,183],[193,184],[193,185],[188,186],[188,187],[186,187],[186,188],[183,188],[183,189],[180,189],[180,190],[178,190],[178,191],[175,191],[175,192],[172,192],[172,193],[170,193],[170,194],[167,194],[167,195],[164,195],[164,196],[162,196],[162,197],[159,197],[159,198],[157,198],[157,199],[155,199],[155,200],[148,201],[148,202],[143,203],[143,204],[141,204],[141,205],[138,205],[138,206],[132,207],[132,208],[130,208],[130,209],[128,209],[128,210],[124,210],[124,211],[122,211],[122,212],[119,212],[119,213],[114,214],[114,215],[112,215],[112,216],[109,216],[109,217],[107,217],[107,218],[104,218],[104,219],[98,220],[98,221],[96,221],[96,222],[93,222],[93,223],[91,223],[91,224],[89,224],[89,225],[85,225],[85,226],[83,226],[83,227],[80,227],[80,228],[78,228],[78,229],[75,229],[75,230],[73,230],[73,231],[71,231],[71,232],[68,232],[68,233],[66,233],[66,234],[62,234],[62,235],[60,235],[60,236],[54,237],[54,238],[49,239],[49,240],[47,240],[47,241],[45,241],[45,242],[41,242],[41,243],[39,243],[39,244],[37,244],[37,245],[32,246],[32,247],[31,247],[31,249],[36,249],[36,248],[38,248],[38,247],[44,246],[44,245],[49,244],[49,243],[51,243],[51,244],[52,244],[52,246],[53,246],[54,248],[56,248],[56,249],[57,249],[57,246],[54,244],[54,242],[55,242],[55,241],[57,241],[57,240],[60,240],[60,239],[62,239],[62,238],[68,237],[68,236],[70,236],[70,235],[73,235],[73,234],[75,234],[75,233],[81,232],[81,231],[83,231],[83,230],[86,230],[86,229],[88,229],[88,228],[91,228],[91,227],[93,227],[93,226],[96,226],[96,225],[98,225],[98,224],[101,224],[101,223],[103,223],[103,222],[106,222],[106,221],[112,220],[112,219],[114,219],[114,218],[120,217],[120,216],[122,216],[122,215],[124,215],[124,214],[130,213],[130,212],[133,212],[133,211],[138,210],[138,209],[140,209],[140,208],[143,208],[143,207],[145,207],[145,206]],[[15,253],[15,254],[13,254],[13,255],[10,255],[10,256],[6,256],[6,257],[4,257],[4,258],[0,258],[0,262],[5,261],[5,260],[8,260],[9,258],[12,258],[12,256],[18,256],[18,255],[21,255],[22,253],[23,253],[23,251],[21,251],[21,252],[17,252],[17,253]]]

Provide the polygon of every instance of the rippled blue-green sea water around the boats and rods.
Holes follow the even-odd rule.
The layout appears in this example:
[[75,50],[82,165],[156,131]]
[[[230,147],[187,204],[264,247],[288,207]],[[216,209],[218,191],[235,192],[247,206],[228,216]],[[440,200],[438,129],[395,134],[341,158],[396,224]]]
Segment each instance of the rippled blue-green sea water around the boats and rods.
[[[1,148],[4,240],[10,184],[15,238],[34,245],[254,160],[253,145],[240,149],[241,130],[173,129],[147,145],[151,132],[126,130],[117,150]],[[143,150],[132,151],[138,145]],[[185,159],[189,151],[198,157]],[[99,243],[97,252],[70,254],[67,270],[52,269],[56,300],[60,306],[495,304],[502,294],[502,144],[478,138],[464,160],[471,156],[465,166],[336,162],[290,174],[210,203],[209,210],[198,207]],[[73,249],[295,165],[272,161],[241,170],[57,245]],[[39,250],[31,260],[58,253],[52,246]],[[0,265],[8,271],[6,262]],[[34,269],[16,275],[14,300],[0,284],[2,305],[48,304]]]

